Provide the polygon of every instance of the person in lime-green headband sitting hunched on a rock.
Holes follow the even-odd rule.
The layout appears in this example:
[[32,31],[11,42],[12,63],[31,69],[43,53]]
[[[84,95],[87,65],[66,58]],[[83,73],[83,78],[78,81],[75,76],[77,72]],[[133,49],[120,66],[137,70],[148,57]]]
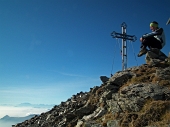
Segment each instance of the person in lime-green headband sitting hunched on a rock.
[[158,23],[153,21],[150,23],[151,33],[144,34],[141,38],[141,50],[138,57],[146,54],[148,49],[159,52],[165,45],[165,35],[163,28],[159,28]]

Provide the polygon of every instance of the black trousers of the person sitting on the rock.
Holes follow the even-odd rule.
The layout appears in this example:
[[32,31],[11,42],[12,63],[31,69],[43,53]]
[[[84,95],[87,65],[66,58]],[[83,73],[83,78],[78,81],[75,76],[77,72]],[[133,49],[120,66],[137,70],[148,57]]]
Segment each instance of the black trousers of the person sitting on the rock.
[[149,49],[151,48],[157,48],[157,49],[162,49],[161,42],[158,41],[154,37],[149,37],[146,38],[142,43],[141,43],[141,48],[146,48],[148,46]]

